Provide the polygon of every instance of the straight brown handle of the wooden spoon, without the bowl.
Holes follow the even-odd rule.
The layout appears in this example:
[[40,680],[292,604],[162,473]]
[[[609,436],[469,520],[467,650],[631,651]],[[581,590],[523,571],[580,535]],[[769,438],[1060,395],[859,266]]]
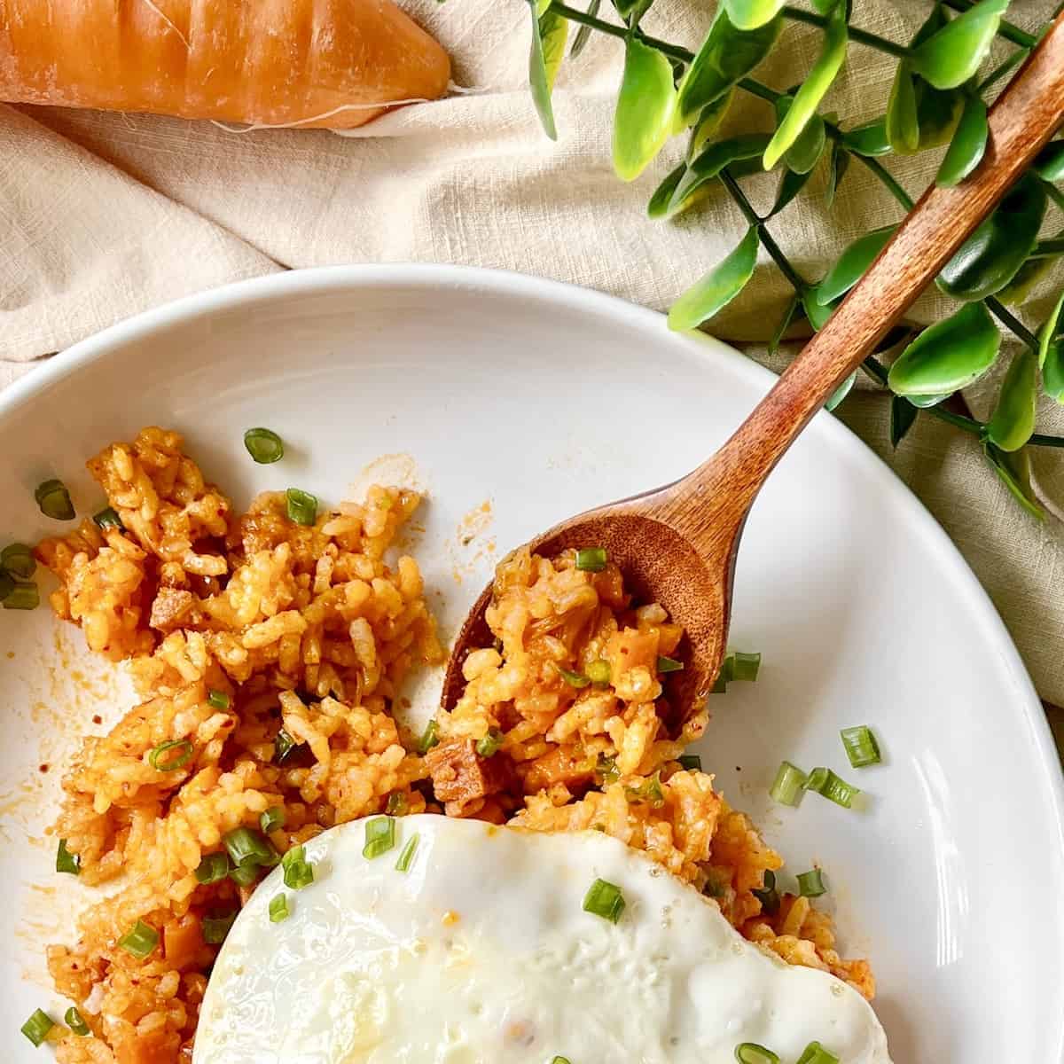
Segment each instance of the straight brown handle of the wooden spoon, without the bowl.
[[727,494],[727,509],[741,522],[765,478],[809,419],[990,214],[1062,122],[1064,15],[991,110],[986,154],[976,171],[957,187],[932,185],[924,194],[828,323],[725,446],[674,486],[674,498],[678,501],[682,494],[720,500]]

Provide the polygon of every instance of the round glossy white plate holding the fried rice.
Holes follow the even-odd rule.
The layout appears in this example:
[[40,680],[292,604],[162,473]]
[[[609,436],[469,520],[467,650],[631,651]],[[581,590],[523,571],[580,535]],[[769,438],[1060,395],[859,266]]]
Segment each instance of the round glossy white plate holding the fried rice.
[[[423,266],[280,275],[140,315],[0,396],[0,534],[56,530],[33,502],[47,477],[81,512],[98,506],[85,458],[172,426],[242,504],[290,484],[336,501],[375,476],[425,487],[416,552],[446,634],[499,552],[686,472],[770,381],[656,314],[545,281]],[[282,463],[251,463],[252,425],[284,437]],[[0,614],[0,1046],[26,1061],[38,1059],[18,1033],[26,1016],[62,1014],[33,978],[43,943],[66,933],[57,895],[31,883],[63,899],[77,887],[50,871],[53,841],[27,843],[57,793],[38,765],[127,697],[80,633],[56,630],[46,609]],[[705,764],[793,871],[824,866],[846,948],[874,961],[897,1064],[1060,1062],[1064,802],[1042,709],[954,548],[830,415],[754,508],[731,643],[764,665],[757,684],[714,697]],[[838,729],[854,724],[876,729],[883,765],[849,768]],[[869,811],[815,795],[771,807],[783,758],[834,767]]]

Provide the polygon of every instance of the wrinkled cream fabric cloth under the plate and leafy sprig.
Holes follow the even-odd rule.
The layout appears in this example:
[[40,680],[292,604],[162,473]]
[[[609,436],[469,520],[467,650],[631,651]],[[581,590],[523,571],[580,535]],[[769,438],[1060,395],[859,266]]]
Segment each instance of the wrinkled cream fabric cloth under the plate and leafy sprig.
[[[465,90],[395,112],[355,137],[231,132],[154,116],[0,104],[0,385],[145,307],[284,268],[469,263],[665,309],[737,243],[745,223],[722,193],[678,221],[647,219],[647,199],[679,157],[680,139],[633,184],[613,176],[617,40],[593,34],[581,56],[563,65],[554,94],[560,137],[552,145],[526,88],[526,3],[403,2],[448,48],[454,81]],[[646,24],[694,47],[712,6],[658,0]],[[900,40],[928,5],[858,0],[854,9],[855,24]],[[1010,17],[1032,27],[1051,2],[1016,0],[1012,9]],[[819,39],[804,27],[786,34],[758,72],[780,88],[808,69]],[[892,76],[890,60],[852,49],[828,107],[847,122],[874,117]],[[733,128],[769,121],[766,105],[753,99],[741,99],[729,118]],[[937,155],[887,165],[915,196],[933,177]],[[749,182],[755,205],[767,207],[775,183],[775,176]],[[854,235],[899,215],[860,164],[850,167],[832,212],[824,206],[822,186],[820,172],[774,226],[811,279]],[[764,361],[757,343],[768,338],[788,296],[779,273],[763,263],[713,331],[747,343]],[[1047,286],[1025,307],[1028,320],[1040,320],[1048,302]],[[943,305],[927,297],[914,318],[929,320]],[[970,401],[985,413],[978,393]],[[1025,516],[974,439],[930,417],[892,453],[887,409],[882,395],[859,392],[839,416],[946,527],[1005,617],[1043,696],[1064,703],[1061,526]],[[1050,420],[1055,415],[1047,413]],[[1044,495],[1064,508],[1064,455],[1042,453],[1037,467]]]

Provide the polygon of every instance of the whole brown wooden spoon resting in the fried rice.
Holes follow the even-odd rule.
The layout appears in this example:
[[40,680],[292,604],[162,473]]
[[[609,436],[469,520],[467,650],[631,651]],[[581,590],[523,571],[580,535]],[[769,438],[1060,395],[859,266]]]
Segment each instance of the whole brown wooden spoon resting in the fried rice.
[[[604,547],[644,602],[682,625],[671,674],[669,726],[699,708],[720,669],[728,638],[735,554],[747,514],[768,475],[810,418],[860,366],[971,231],[991,213],[1064,122],[1064,15],[990,113],[986,154],[954,188],[929,188],[828,323],[805,345],[735,434],[682,480],[599,506],[554,526],[529,546],[552,556]],[[470,611],[451,651],[442,704],[453,708],[466,654],[492,645],[484,611]]]

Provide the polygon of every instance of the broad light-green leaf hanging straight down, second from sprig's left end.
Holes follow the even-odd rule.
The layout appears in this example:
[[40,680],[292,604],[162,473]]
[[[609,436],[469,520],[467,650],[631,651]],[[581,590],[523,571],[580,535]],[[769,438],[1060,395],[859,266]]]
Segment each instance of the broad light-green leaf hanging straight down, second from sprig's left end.
[[621,181],[634,181],[661,151],[675,109],[671,64],[637,37],[629,37],[613,119],[613,168]]

